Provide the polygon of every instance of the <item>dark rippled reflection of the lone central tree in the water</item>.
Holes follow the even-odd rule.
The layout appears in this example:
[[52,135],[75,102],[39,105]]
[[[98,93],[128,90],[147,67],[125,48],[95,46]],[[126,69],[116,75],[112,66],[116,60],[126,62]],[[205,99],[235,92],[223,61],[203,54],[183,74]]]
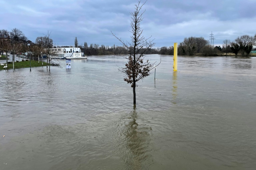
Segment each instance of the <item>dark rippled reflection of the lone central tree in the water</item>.
[[139,125],[136,106],[131,112],[131,121],[126,125],[126,143],[128,149],[125,155],[126,169],[148,169],[152,161],[149,159],[151,155],[151,135],[152,128],[147,125]]

